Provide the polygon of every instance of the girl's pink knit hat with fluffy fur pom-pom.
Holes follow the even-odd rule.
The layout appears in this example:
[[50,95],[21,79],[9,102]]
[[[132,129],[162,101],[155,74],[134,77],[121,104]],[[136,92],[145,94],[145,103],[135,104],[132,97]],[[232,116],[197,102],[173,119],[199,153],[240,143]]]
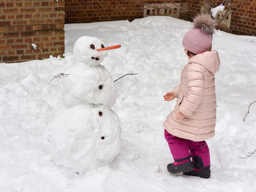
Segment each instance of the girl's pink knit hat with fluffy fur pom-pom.
[[209,50],[216,23],[211,15],[197,15],[194,18],[195,28],[185,34],[182,45],[192,53],[199,54]]

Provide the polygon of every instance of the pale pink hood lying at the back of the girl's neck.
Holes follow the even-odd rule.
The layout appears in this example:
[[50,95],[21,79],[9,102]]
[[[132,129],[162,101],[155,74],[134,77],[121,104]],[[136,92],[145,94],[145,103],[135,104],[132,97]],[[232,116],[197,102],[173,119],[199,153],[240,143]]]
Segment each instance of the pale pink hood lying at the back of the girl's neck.
[[206,51],[190,58],[189,64],[191,63],[200,64],[206,67],[211,73],[216,74],[219,71],[219,54],[217,50]]

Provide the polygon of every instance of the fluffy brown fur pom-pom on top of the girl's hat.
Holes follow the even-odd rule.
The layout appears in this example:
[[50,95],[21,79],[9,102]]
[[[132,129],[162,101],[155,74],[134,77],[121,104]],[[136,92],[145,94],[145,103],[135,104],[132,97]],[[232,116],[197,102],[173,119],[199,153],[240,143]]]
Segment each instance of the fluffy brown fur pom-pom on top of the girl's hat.
[[211,18],[209,14],[197,15],[194,18],[195,28],[200,28],[206,34],[214,34],[217,23]]

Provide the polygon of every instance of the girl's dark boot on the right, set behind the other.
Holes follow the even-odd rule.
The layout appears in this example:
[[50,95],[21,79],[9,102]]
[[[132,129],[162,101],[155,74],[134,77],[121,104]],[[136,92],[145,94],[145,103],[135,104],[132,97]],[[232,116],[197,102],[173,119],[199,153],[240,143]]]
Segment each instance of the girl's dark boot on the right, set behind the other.
[[208,179],[211,177],[210,166],[203,166],[202,158],[195,156],[193,157],[194,169],[191,172],[184,172],[184,174],[189,176],[201,177]]

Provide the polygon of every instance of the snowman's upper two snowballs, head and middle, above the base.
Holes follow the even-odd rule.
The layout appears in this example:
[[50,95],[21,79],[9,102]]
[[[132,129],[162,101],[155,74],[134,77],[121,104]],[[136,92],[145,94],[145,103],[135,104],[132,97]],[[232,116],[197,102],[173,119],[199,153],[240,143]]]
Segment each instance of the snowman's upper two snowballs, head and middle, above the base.
[[[67,107],[80,102],[104,104],[113,107],[116,102],[116,85],[110,73],[101,65],[106,51],[97,51],[105,47],[96,37],[80,37],[73,50],[75,61],[68,64],[64,78],[62,99]],[[98,58],[98,59],[97,59]]]

